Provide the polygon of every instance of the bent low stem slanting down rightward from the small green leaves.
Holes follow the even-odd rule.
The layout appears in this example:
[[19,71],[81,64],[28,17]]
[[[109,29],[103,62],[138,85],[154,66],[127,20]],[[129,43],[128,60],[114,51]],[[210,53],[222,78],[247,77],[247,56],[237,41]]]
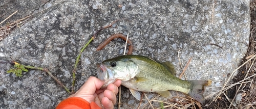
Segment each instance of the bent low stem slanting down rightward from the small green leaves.
[[47,68],[40,68],[40,67],[33,67],[33,66],[25,66],[25,68],[28,68],[28,69],[37,69],[37,70],[42,70],[42,71],[45,71],[47,72],[60,86],[62,86],[68,93],[70,93],[69,89],[63,85],[61,83],[61,81],[59,81],[55,76],[52,75],[52,73],[47,69]]

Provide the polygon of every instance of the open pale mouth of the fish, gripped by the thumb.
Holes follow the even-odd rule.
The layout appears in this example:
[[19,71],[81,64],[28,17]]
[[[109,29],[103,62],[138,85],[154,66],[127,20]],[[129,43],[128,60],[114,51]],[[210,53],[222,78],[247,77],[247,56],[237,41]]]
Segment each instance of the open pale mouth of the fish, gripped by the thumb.
[[114,78],[114,74],[111,69],[105,67],[103,64],[97,64],[97,75],[101,80],[109,80]]

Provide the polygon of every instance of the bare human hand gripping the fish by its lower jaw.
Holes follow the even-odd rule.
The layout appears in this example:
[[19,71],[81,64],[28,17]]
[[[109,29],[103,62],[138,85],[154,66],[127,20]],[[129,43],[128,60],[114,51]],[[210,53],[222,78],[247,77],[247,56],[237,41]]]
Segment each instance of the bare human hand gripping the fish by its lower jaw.
[[94,101],[99,107],[105,109],[114,108],[116,94],[118,93],[118,87],[121,85],[121,80],[116,80],[115,83],[110,84],[106,89],[100,89],[103,84],[103,81],[92,76],[75,94],[69,97],[80,97],[90,103]]

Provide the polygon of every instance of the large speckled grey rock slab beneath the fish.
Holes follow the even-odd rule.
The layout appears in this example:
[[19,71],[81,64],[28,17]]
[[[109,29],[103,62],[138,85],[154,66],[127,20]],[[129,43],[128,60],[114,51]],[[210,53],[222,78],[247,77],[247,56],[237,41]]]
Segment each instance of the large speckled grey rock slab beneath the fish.
[[[224,84],[228,73],[238,67],[249,41],[249,1],[246,0],[59,0],[19,4],[4,1],[0,5],[5,7],[0,9],[1,13],[10,11],[1,17],[1,21],[13,9],[22,11],[10,21],[34,13],[26,24],[0,42],[0,61],[48,68],[68,88],[71,88],[71,72],[81,47],[101,26],[126,18],[113,28],[101,31],[82,53],[75,90],[88,77],[96,76],[96,63],[122,55],[124,43],[119,39],[96,51],[103,40],[115,33],[129,33],[135,47],[134,55],[173,62],[177,75],[192,57],[185,72],[187,79],[211,79],[210,87]],[[16,77],[6,73],[11,68],[11,64],[0,64],[0,108],[54,108],[69,96],[42,71],[29,70],[23,77]],[[205,96],[217,91],[219,88],[208,88]],[[146,95],[149,99],[157,96],[156,93]],[[125,88],[121,100],[122,108],[139,104]],[[157,97],[157,100],[167,102],[163,97]],[[142,106],[146,102],[143,101]],[[159,104],[153,103],[155,107]]]

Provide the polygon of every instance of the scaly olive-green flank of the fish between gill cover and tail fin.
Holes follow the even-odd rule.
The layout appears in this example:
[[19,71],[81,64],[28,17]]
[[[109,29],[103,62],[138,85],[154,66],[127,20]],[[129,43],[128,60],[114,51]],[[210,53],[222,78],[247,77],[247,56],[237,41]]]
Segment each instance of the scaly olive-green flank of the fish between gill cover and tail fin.
[[[123,82],[122,85],[129,88],[138,88],[138,91],[143,92],[155,92],[155,91],[165,91],[165,90],[174,90],[174,91],[180,91],[183,93],[188,93],[190,89],[190,83],[185,80],[178,79],[177,77],[174,77],[163,65],[160,63],[151,60],[150,58],[144,58],[143,60],[138,60],[138,58],[134,58],[135,56],[130,57],[132,61],[137,63],[138,66],[141,66],[140,72],[136,75],[136,77],[144,77],[147,79],[150,79],[151,81],[142,81],[134,84],[129,84],[127,82]],[[145,62],[148,62],[148,64],[144,64]],[[157,64],[157,65],[156,65]],[[152,72],[152,69],[154,69],[154,72]],[[157,72],[161,72],[160,74]],[[154,81],[153,81],[154,80]],[[158,81],[161,81],[158,82]],[[127,84],[128,83],[128,84]],[[184,84],[186,83],[186,84]],[[175,85],[172,85],[175,84]],[[148,89],[148,87],[151,87]],[[183,88],[182,88],[183,87]],[[153,89],[153,91],[151,90]]]

